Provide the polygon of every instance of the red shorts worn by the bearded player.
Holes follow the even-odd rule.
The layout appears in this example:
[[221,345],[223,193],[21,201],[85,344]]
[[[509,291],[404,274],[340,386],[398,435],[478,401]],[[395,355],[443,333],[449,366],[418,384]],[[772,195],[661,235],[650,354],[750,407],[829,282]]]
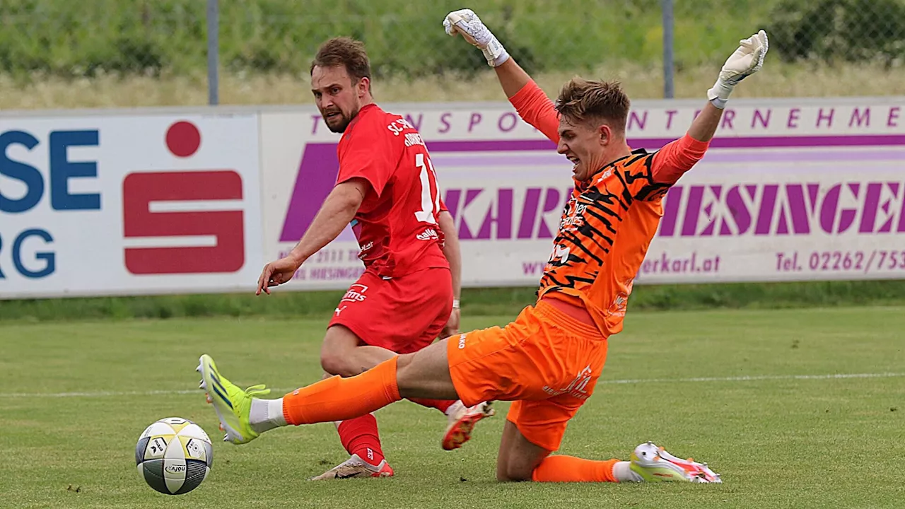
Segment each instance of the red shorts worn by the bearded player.
[[365,271],[337,304],[329,327],[342,325],[371,346],[419,351],[437,338],[452,313],[452,274],[445,267],[384,279]]

